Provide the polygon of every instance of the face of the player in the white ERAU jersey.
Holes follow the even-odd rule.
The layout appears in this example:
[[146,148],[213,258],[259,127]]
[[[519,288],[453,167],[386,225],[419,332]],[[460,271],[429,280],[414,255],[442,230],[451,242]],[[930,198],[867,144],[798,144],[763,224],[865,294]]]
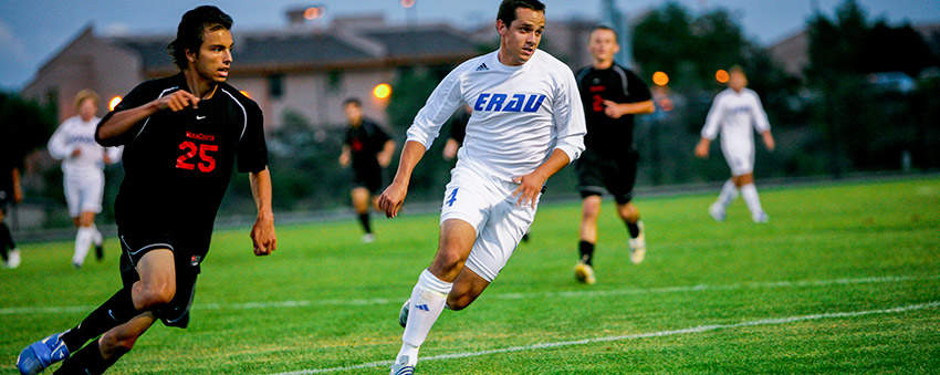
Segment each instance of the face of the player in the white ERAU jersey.
[[544,30],[545,13],[529,8],[516,8],[515,20],[510,25],[497,20],[500,62],[510,66],[524,64],[539,48]]

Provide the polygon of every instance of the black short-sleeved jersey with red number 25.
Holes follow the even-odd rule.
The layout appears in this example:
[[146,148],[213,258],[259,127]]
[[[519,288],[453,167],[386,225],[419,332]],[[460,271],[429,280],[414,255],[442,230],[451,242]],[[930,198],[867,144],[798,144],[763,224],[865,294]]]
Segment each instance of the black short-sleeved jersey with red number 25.
[[[102,123],[178,90],[188,90],[182,73],[144,82]],[[114,204],[118,228],[164,231],[192,251],[209,248],[236,157],[241,173],[268,165],[261,110],[226,83],[198,108],[159,111],[121,136],[98,142],[125,146],[125,175]]]

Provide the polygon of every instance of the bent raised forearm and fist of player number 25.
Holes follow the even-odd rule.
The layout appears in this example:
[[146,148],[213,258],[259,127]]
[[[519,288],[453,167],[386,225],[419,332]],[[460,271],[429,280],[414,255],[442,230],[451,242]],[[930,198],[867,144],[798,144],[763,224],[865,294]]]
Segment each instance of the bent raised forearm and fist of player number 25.
[[109,116],[106,116],[101,124],[98,124],[98,128],[95,132],[95,140],[101,143],[103,146],[112,146],[108,143],[108,139],[119,137],[144,118],[147,118],[159,111],[169,110],[173,112],[179,112],[190,105],[195,108],[198,104],[199,98],[196,97],[196,95],[192,95],[185,90],[177,90],[169,95],[163,96],[138,107],[113,112]]

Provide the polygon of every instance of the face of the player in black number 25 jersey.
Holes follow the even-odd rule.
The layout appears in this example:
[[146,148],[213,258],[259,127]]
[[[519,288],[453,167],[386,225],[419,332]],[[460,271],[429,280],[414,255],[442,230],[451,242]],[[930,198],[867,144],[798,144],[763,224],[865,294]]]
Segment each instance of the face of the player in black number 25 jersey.
[[226,29],[206,30],[202,32],[202,45],[199,51],[187,51],[190,67],[202,79],[221,83],[229,77],[229,66],[232,63],[232,33]]

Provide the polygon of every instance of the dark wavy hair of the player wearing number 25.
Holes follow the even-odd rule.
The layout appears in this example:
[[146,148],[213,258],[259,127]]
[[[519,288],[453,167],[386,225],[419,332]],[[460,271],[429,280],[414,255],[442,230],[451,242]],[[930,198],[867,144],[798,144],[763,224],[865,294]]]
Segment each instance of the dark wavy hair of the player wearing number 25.
[[202,33],[219,29],[232,29],[232,18],[219,8],[202,6],[182,14],[179,27],[176,29],[176,40],[167,45],[176,66],[179,66],[179,70],[186,69],[189,64],[186,50],[199,51],[203,41]]

